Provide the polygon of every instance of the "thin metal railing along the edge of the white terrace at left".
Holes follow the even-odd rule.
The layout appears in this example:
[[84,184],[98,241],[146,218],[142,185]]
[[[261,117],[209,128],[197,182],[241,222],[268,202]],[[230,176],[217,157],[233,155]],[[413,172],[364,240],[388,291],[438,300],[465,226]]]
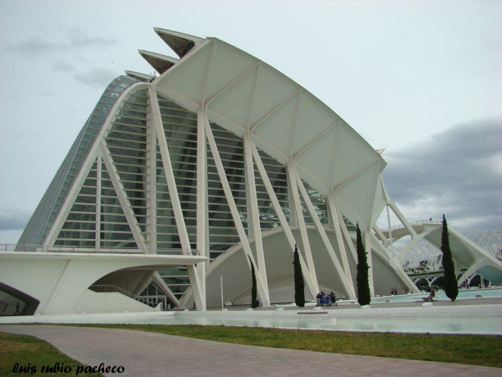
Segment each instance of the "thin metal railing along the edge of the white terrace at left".
[[138,249],[129,247],[73,247],[51,245],[0,244],[0,252],[31,251],[39,253],[89,253],[89,254],[156,254],[156,255],[200,255],[197,249]]

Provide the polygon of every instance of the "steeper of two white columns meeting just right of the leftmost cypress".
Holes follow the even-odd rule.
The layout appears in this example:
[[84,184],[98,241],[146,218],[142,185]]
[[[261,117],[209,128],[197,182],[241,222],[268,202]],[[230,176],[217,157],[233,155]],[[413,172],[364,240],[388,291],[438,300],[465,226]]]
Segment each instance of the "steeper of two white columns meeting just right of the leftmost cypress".
[[[244,164],[245,164],[244,171],[245,171],[246,187],[247,187],[247,212],[248,212],[247,223],[249,224],[249,235],[253,235],[253,238],[255,239],[257,270],[262,277],[264,289],[270,296],[270,292],[268,290],[265,256],[263,251],[262,232],[260,227],[260,212],[258,209],[258,197],[256,194],[255,169],[253,166],[253,152],[251,149],[251,140],[249,133],[244,134],[243,144],[244,144]],[[270,302],[268,303],[264,302],[263,305],[270,306]]]

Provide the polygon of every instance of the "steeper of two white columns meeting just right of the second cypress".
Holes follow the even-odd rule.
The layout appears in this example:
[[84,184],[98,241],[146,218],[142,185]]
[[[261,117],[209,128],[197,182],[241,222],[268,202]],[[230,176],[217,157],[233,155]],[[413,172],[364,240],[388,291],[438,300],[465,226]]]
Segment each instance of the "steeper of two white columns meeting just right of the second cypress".
[[288,161],[286,164],[286,175],[289,187],[291,189],[289,191],[289,194],[293,197],[293,204],[295,208],[295,213],[297,215],[298,228],[300,229],[300,238],[302,240],[303,254],[305,255],[307,268],[309,269],[310,276],[312,276],[312,280],[314,281],[316,291],[319,291],[319,285],[317,283],[317,275],[315,273],[315,267],[314,267],[314,259],[312,258],[309,236],[307,234],[307,227],[305,226],[305,218],[303,216],[302,202],[300,201],[300,195],[298,194],[296,169],[292,161]]

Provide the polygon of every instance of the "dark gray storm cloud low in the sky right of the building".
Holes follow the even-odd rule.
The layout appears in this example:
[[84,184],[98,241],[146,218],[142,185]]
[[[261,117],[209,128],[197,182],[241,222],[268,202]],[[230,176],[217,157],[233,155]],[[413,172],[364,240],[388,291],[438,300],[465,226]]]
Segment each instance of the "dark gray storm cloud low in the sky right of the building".
[[502,225],[502,120],[450,127],[385,157],[387,191],[409,217],[445,213],[463,230]]

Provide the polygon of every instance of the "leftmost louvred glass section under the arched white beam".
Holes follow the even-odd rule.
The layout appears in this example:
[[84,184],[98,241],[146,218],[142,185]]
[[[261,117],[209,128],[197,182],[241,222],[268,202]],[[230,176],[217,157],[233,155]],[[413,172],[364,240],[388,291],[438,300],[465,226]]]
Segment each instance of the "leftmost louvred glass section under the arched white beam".
[[55,245],[136,248],[116,190],[123,191],[146,240],[146,114],[145,89],[134,92],[122,103],[104,138],[121,186],[114,187],[100,156],[80,187]]

